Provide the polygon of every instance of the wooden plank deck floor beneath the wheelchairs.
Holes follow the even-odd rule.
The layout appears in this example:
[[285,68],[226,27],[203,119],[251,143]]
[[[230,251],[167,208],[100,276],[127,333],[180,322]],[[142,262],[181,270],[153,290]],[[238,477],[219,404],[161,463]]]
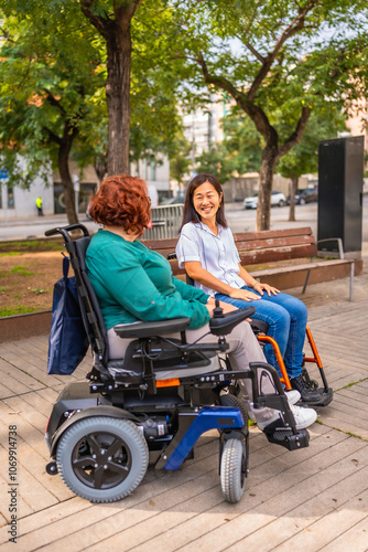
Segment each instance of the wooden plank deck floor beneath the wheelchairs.
[[[43,551],[368,550],[368,275],[310,286],[310,327],[335,390],[310,428],[310,447],[290,453],[251,428],[250,474],[238,505],[221,498],[216,432],[174,473],[150,469],[112,505],[75,497],[45,473],[44,431],[66,382],[46,375],[47,338],[0,344],[0,548]],[[299,295],[299,290],[293,290]],[[17,544],[11,537],[9,427],[18,432]]]

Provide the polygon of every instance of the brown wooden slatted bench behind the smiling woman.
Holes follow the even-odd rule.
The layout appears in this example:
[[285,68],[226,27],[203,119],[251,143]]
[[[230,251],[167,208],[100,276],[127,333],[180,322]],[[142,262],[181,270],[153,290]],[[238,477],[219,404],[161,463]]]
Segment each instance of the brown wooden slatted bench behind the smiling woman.
[[[241,264],[249,269],[251,265],[262,263],[273,263],[277,261],[305,259],[310,262],[292,264],[290,266],[278,266],[275,268],[267,268],[262,270],[249,270],[253,278],[260,279],[274,275],[286,275],[305,272],[305,280],[303,285],[303,294],[305,293],[310,274],[312,270],[325,267],[337,267],[349,265],[350,283],[349,283],[349,300],[354,297],[354,259],[345,258],[343,242],[340,238],[335,241],[338,247],[339,258],[316,259],[317,257],[317,241],[313,236],[311,227],[302,229],[285,229],[285,230],[268,230],[263,232],[242,232],[234,234],[235,243],[239,252]],[[323,240],[327,242],[327,240]],[[169,240],[148,240],[144,244],[158,253],[161,253],[165,258],[170,253],[175,251],[177,238]],[[321,242],[320,242],[321,243]],[[328,253],[331,255],[331,253]],[[178,268],[176,258],[171,259],[170,264],[174,276],[184,275],[185,272]]]

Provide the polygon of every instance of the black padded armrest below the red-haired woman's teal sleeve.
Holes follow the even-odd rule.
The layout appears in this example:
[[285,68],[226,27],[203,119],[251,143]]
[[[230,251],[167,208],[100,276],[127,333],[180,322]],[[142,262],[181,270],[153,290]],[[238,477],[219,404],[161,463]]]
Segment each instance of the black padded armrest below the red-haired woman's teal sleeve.
[[166,336],[167,333],[180,333],[191,322],[191,318],[173,318],[172,320],[159,320],[156,322],[118,323],[113,326],[119,338],[151,338],[154,336]]

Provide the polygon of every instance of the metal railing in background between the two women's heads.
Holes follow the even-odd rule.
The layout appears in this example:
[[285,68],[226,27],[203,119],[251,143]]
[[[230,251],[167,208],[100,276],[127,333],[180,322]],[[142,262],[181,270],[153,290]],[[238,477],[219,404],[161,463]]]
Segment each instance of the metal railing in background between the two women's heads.
[[151,209],[152,229],[147,229],[143,240],[177,237],[183,217],[183,205],[162,205]]

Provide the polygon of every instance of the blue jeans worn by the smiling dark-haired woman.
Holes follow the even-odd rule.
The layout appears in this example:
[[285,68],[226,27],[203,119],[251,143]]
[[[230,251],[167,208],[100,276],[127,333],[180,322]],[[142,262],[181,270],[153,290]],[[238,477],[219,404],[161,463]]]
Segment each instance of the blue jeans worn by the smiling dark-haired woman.
[[[243,286],[242,289],[259,295],[250,287]],[[261,299],[250,301],[231,299],[231,297],[224,294],[216,294],[215,297],[238,308],[256,307],[257,310],[252,318],[269,325],[268,336],[278,342],[289,378],[296,378],[302,372],[307,321],[307,310],[304,302],[296,299],[296,297],[282,293],[269,297],[264,290],[263,295],[260,296]],[[264,347],[264,355],[272,367],[278,368],[273,348],[269,343]]]

